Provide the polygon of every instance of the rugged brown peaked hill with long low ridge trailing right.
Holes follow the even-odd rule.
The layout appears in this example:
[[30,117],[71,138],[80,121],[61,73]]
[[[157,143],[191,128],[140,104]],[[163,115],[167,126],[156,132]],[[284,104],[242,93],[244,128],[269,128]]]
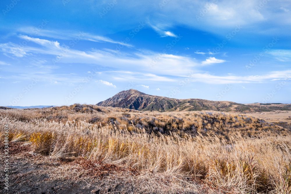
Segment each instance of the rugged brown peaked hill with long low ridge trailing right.
[[97,103],[98,106],[129,108],[139,111],[222,111],[222,112],[269,112],[291,111],[291,104],[239,104],[230,101],[204,99],[175,99],[148,95],[138,90],[121,91],[113,97]]

